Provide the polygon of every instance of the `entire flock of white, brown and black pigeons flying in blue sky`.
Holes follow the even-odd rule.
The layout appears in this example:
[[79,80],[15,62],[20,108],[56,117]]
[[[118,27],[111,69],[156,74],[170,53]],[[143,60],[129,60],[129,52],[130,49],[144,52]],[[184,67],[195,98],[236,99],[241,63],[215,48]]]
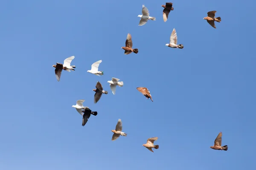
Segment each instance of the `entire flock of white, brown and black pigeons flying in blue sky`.
[[[166,5],[162,5],[162,7],[164,8],[163,9],[163,21],[166,22],[168,19],[168,16],[169,16],[169,12],[173,10],[172,3],[166,3]],[[216,28],[214,21],[216,21],[218,23],[221,22],[221,17],[215,18],[215,13],[216,13],[216,11],[209,11],[207,13],[208,16],[204,17],[204,20],[207,20],[207,22],[213,28]],[[142,8],[142,15],[138,15],[138,17],[141,18],[139,26],[145,25],[148,22],[148,20],[156,20],[155,17],[149,16],[148,8],[146,8],[144,5]],[[128,33],[128,35],[126,37],[126,41],[125,41],[125,47],[121,47],[121,48],[125,50],[125,54],[131,54],[132,52],[137,54],[139,52],[139,50],[137,48],[133,49],[132,46],[133,46],[133,44],[132,44],[132,40],[131,40],[131,34]],[[166,46],[169,46],[171,48],[181,48],[181,49],[183,48],[183,44],[177,45],[177,33],[176,33],[175,28],[173,28],[173,31],[172,31],[172,34],[170,37],[170,43],[166,44]],[[70,70],[75,71],[74,68],[76,68],[76,66],[70,65],[71,61],[74,58],[75,58],[75,56],[71,56],[71,57],[68,57],[67,59],[65,59],[63,64],[57,62],[56,65],[52,65],[52,67],[55,68],[55,75],[56,75],[58,82],[60,81],[62,70],[69,71],[69,72],[70,72]],[[89,72],[91,74],[95,74],[97,76],[102,76],[104,74],[104,72],[99,71],[99,64],[101,62],[102,62],[102,60],[94,62],[91,65],[91,69],[88,70],[87,72]],[[120,79],[112,77],[112,79],[108,81],[113,95],[116,94],[116,86],[122,87],[124,85],[124,83],[119,82],[119,80]],[[150,91],[147,88],[138,87],[137,90],[140,91],[147,99],[150,98],[151,101],[153,102]],[[97,82],[96,89],[93,89],[93,91],[95,91],[94,103],[97,103],[99,101],[102,94],[108,94],[108,91],[103,90],[103,87],[100,82]],[[83,106],[83,102],[84,102],[84,100],[78,100],[78,101],[76,101],[76,105],[72,106],[73,108],[76,108],[76,111],[78,111],[83,116],[82,126],[84,126],[87,123],[91,114],[94,116],[96,116],[98,114],[96,111],[91,111],[88,107]],[[122,120],[121,119],[118,119],[115,130],[111,130],[111,132],[113,132],[112,141],[115,141],[117,138],[119,138],[120,135],[127,136],[126,133],[122,132]],[[152,148],[154,148],[154,149],[159,148],[159,145],[154,145],[154,141],[156,141],[157,139],[158,139],[158,137],[148,138],[147,143],[143,144],[143,146],[146,147],[151,152],[154,152],[152,150]],[[221,140],[222,140],[222,132],[220,132],[218,134],[218,136],[216,137],[216,139],[214,141],[214,146],[211,146],[210,148],[215,149],[215,150],[227,150],[228,149],[227,145],[221,146]]]

